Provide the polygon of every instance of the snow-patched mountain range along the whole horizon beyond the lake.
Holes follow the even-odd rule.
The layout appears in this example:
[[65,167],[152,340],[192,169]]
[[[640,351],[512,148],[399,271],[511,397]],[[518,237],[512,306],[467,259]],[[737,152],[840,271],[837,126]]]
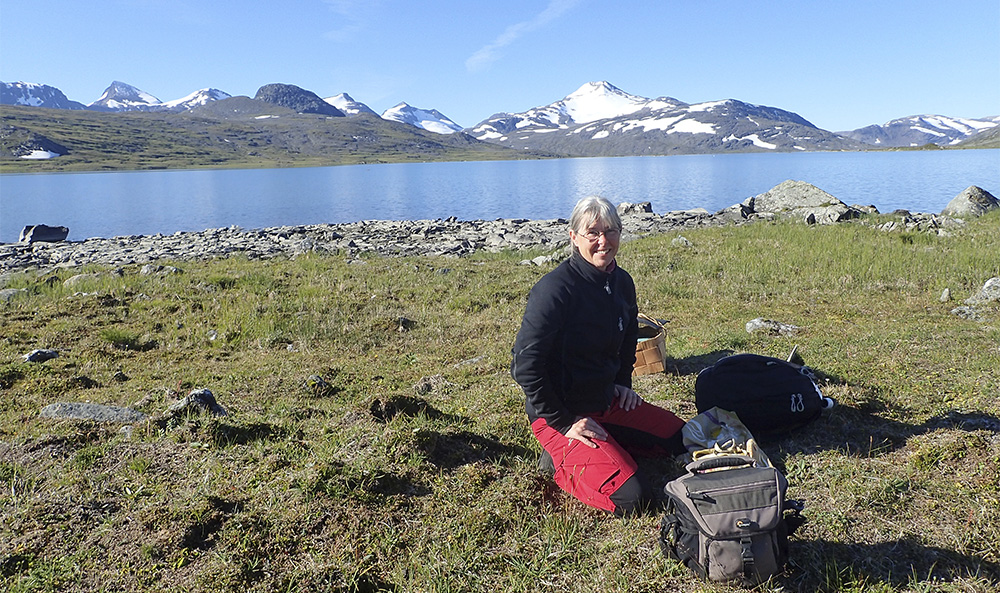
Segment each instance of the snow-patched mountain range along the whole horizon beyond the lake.
[[[261,89],[273,85],[264,85]],[[300,113],[339,117],[375,115],[438,134],[467,133],[479,140],[566,156],[628,156],[746,151],[867,150],[938,146],[979,146],[977,134],[1000,126],[1000,116],[957,118],[907,116],[882,125],[831,132],[800,115],[777,107],[737,99],[689,104],[673,97],[649,99],[627,93],[607,81],[588,82],[562,99],[521,113],[494,114],[462,128],[436,109],[401,102],[378,116],[347,93],[321,99],[296,87]],[[258,90],[258,95],[261,93]],[[0,104],[106,112],[186,113],[232,98],[218,89],[200,89],[184,98],[162,102],[154,95],[113,81],[90,105],[69,100],[58,88],[35,83],[0,83]],[[306,98],[308,95],[308,98]],[[248,98],[249,99],[249,98]],[[281,104],[281,100],[274,99]],[[340,106],[343,107],[341,109]],[[242,108],[264,111],[260,106]],[[239,108],[236,109],[239,112]],[[990,146],[989,142],[986,144]]]

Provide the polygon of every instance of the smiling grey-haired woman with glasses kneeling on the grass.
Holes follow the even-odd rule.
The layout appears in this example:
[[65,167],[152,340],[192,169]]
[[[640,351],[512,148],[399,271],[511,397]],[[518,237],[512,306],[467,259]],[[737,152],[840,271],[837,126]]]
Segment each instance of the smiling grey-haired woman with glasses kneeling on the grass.
[[584,198],[569,219],[573,255],[531,289],[511,374],[524,389],[539,466],[584,503],[622,516],[650,500],[632,455],[684,452],[684,421],[632,391],[635,284],[618,267],[618,212]]

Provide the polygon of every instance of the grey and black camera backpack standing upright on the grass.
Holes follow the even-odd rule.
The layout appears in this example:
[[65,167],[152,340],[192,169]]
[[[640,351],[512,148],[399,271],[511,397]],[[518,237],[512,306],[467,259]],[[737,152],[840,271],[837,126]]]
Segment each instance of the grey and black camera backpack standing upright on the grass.
[[743,455],[696,460],[667,483],[660,548],[700,578],[753,586],[780,573],[788,560],[788,483],[780,471]]

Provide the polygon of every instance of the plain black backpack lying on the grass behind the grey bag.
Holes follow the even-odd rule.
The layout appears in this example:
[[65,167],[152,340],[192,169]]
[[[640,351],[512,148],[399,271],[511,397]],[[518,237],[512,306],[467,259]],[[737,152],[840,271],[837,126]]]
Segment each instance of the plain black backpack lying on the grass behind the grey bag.
[[735,413],[755,437],[776,436],[834,405],[814,377],[809,367],[780,358],[734,354],[698,373],[695,405],[699,413],[714,407]]

